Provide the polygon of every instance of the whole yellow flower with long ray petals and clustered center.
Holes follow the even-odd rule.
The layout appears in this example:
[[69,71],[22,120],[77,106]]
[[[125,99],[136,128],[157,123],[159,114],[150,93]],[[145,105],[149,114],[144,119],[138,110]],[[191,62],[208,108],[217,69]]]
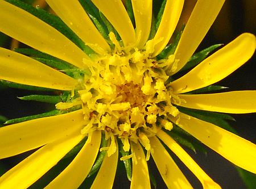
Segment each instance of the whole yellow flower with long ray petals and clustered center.
[[[92,0],[113,25],[108,40],[94,26],[79,1],[47,0],[65,24],[94,52],[86,54],[36,16],[0,1],[0,31],[41,52],[76,66],[82,77],[70,77],[30,57],[0,48],[0,79],[24,85],[70,91],[58,110],[80,110],[0,128],[0,158],[36,149],[0,178],[0,188],[27,188],[87,137],[71,163],[46,188],[77,188],[93,166],[101,136],[109,141],[106,156],[91,188],[112,188],[118,141],[132,158],[131,188],[150,188],[147,159],[154,159],[168,188],[192,188],[162,141],[200,180],[204,188],[220,188],[167,131],[174,124],[237,166],[256,173],[256,146],[216,125],[188,116],[177,106],[232,114],[256,112],[256,91],[184,94],[225,78],[255,51],[255,36],[243,33],[183,77],[170,82],[195,52],[224,0],[196,3],[174,54],[156,56],[166,47],[183,8],[183,0],[167,0],[158,30],[148,40],[152,1],[132,0],[135,29],[121,0]],[[119,41],[118,37],[121,37]],[[102,135],[105,134],[105,135]],[[146,156],[143,148],[146,150]]]

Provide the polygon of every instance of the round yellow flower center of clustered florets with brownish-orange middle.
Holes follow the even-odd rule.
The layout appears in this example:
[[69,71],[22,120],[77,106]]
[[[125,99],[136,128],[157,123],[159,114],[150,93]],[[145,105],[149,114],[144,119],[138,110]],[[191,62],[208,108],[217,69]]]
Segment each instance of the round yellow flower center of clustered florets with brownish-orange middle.
[[[171,89],[165,85],[168,79],[163,67],[174,64],[174,58],[164,62],[156,61],[150,54],[154,49],[154,41],[147,42],[143,49],[121,48],[110,33],[115,49],[111,54],[94,58],[88,64],[90,77],[84,78],[79,97],[70,106],[81,105],[85,119],[82,134],[101,130],[106,139],[112,142],[108,156],[115,152],[115,139],[123,143],[123,150],[130,150],[130,142],[141,142],[150,154],[148,137],[164,127],[171,130],[172,123],[167,116],[177,116],[179,111],[172,106],[172,98],[176,98]],[[168,62],[168,65],[166,62]],[[61,109],[67,103],[56,104]]]

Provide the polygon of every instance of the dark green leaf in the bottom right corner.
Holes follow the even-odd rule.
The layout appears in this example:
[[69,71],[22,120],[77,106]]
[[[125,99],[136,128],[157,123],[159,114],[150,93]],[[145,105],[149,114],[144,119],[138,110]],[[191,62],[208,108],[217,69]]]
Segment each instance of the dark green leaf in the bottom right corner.
[[[254,163],[254,162],[252,162]],[[246,171],[240,167],[235,166],[240,177],[242,178],[243,182],[245,183],[247,189],[255,189],[256,186],[256,175],[249,171]]]

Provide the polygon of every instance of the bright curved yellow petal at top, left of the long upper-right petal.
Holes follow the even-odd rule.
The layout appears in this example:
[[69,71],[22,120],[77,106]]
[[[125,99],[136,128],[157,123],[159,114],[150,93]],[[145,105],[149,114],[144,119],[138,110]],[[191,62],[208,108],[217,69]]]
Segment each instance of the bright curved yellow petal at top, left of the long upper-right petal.
[[157,56],[169,42],[179,21],[183,4],[184,0],[167,0],[158,31],[156,31],[154,37],[154,40],[161,41],[155,45],[155,52],[152,57]]

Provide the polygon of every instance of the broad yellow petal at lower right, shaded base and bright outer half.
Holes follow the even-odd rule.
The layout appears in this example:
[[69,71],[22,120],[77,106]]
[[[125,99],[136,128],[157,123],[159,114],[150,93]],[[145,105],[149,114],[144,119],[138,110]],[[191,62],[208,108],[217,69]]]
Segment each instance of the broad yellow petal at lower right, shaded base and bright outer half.
[[256,159],[255,144],[211,123],[184,117],[177,122],[175,118],[170,119],[230,162],[256,174],[256,164],[253,163]]

